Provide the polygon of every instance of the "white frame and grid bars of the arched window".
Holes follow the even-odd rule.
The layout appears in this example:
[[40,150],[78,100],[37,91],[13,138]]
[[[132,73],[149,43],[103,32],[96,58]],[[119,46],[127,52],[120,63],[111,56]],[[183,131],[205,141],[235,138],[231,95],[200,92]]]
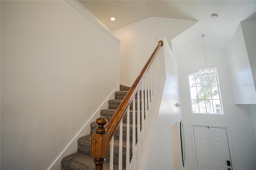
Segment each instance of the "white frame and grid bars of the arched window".
[[[195,78],[195,86],[192,86],[192,85],[190,85],[190,77],[192,77],[192,76],[195,76],[194,78]],[[201,85],[198,85],[198,77],[199,77],[199,73],[197,72],[197,73],[193,73],[193,74],[191,74],[191,75],[188,75],[188,87],[189,87],[189,93],[190,93],[190,108],[191,108],[191,112],[192,112],[192,114],[202,114],[202,115],[224,115],[224,112],[223,112],[223,105],[222,105],[222,97],[221,97],[221,93],[220,93],[220,83],[219,83],[219,79],[218,79],[218,74],[216,74],[216,85],[212,85],[212,84],[210,84],[210,81],[209,81],[209,85],[205,85],[205,84],[207,84],[208,82],[206,82],[206,83],[204,83],[205,81],[202,79],[202,78],[200,78],[201,80]],[[204,87],[206,87],[206,86],[208,86],[209,87],[209,89],[210,89],[210,94],[211,94],[211,98],[210,99],[206,99],[206,97],[205,97],[205,90],[204,90]],[[213,96],[212,96],[212,90],[211,90],[211,88],[212,87],[214,87],[214,86],[216,86],[217,87],[217,89],[218,89],[218,98],[219,99],[213,99]],[[192,99],[192,95],[191,95],[191,87],[195,87],[196,88],[196,99]],[[198,87],[199,88],[202,88],[202,90],[203,90],[203,97],[204,97],[204,99],[198,99]],[[192,101],[196,101],[197,100],[197,102],[198,102],[198,106],[196,106],[196,107],[198,107],[198,112],[196,112],[196,107],[192,104]],[[200,100],[202,100],[202,101],[204,101],[204,105],[205,105],[205,113],[200,113]],[[207,113],[208,111],[209,111],[209,109],[210,109],[210,111],[211,111],[211,108],[209,108],[209,109],[207,109],[207,106],[206,106],[206,102],[208,102],[208,100],[211,100],[211,102],[212,102],[212,111],[213,111],[213,113]],[[214,101],[219,101],[219,104],[214,104]],[[214,105],[219,105],[220,107],[215,107]],[[195,108],[194,108],[194,107]],[[194,109],[193,109],[194,108]],[[216,109],[218,109],[218,110],[220,110],[220,112],[221,113],[218,113],[219,111],[217,111]],[[193,112],[195,110],[195,112]]]

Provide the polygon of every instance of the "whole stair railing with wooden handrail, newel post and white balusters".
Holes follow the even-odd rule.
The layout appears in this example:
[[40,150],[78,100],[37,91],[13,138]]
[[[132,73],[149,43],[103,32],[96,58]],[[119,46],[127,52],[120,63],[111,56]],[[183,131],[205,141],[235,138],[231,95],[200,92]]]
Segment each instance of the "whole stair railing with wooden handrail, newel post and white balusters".
[[[132,87],[130,87],[130,90],[122,100],[122,103],[119,105],[108,124],[104,117],[96,119],[98,127],[95,129],[96,132],[92,134],[91,143],[91,155],[94,157],[96,170],[103,169],[103,164],[106,162],[106,156],[108,155],[109,150],[109,169],[113,169],[114,134],[117,130],[119,130],[120,133],[118,169],[122,170],[125,166],[126,170],[136,170],[138,167],[144,166],[140,164],[141,162],[142,164],[145,164],[145,159],[147,159],[145,157],[148,156],[149,146],[146,148],[146,145],[149,143],[147,132],[150,129],[149,125],[151,125],[152,119],[156,118],[153,114],[154,101],[156,100],[156,96],[159,96],[158,92],[160,92],[160,89],[163,87],[163,82],[166,77],[164,71],[164,57],[160,51],[160,47],[162,47],[163,43],[163,41],[158,42],[158,45],[154,49],[146,65],[143,67]],[[132,111],[130,111],[130,109]],[[126,159],[123,161],[122,127],[123,117],[126,113]],[[132,127],[130,127],[130,114],[132,114]],[[132,160],[130,159],[130,128],[132,130]],[[147,153],[144,153],[145,150],[147,150]],[[144,156],[145,154],[146,156]]]

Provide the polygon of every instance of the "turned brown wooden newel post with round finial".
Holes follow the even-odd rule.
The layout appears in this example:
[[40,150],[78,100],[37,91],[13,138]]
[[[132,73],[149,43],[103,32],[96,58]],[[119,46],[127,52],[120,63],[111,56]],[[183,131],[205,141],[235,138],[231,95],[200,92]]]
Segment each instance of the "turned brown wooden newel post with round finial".
[[92,134],[91,155],[94,157],[95,170],[103,170],[109,152],[109,134],[105,127],[107,121],[104,117],[96,119],[98,127]]

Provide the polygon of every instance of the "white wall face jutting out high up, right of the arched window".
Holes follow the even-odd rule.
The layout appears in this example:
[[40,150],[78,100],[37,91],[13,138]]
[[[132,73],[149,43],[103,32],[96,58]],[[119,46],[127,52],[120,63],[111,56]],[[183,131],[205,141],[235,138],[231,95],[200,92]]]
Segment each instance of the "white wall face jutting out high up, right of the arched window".
[[252,69],[240,24],[230,40],[226,51],[235,103],[256,104]]

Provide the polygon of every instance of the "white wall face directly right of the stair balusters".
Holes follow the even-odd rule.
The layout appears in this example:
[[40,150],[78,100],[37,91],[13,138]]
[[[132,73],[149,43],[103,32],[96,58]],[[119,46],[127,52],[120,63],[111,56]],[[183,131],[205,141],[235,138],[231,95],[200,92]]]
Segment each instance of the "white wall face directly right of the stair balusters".
[[[166,83],[146,170],[174,169],[172,142],[176,139],[173,139],[172,136],[172,126],[178,122],[180,129],[182,115],[181,108],[175,106],[175,103],[181,102],[177,58],[172,56],[169,50],[168,43],[164,41]],[[180,141],[180,139],[178,140]],[[182,159],[180,158],[180,160]]]

